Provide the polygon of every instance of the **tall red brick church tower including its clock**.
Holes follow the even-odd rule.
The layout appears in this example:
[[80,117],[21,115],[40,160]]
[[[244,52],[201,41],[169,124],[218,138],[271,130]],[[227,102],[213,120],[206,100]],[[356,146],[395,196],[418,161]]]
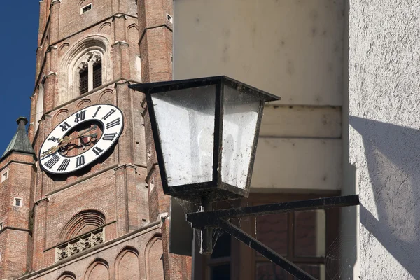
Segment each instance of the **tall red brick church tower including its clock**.
[[172,0],[43,0],[36,55],[0,158],[0,279],[190,279],[128,88],[172,79]]

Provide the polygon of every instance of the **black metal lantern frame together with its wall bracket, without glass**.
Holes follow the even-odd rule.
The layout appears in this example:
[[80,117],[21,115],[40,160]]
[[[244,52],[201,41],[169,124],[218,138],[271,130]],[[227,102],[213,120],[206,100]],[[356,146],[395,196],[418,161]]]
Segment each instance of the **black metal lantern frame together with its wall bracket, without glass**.
[[[212,181],[204,183],[191,183],[181,186],[169,187],[167,183],[167,172],[165,161],[160,144],[160,134],[158,124],[155,118],[155,110],[153,108],[152,94],[159,92],[169,92],[173,90],[182,90],[192,87],[203,87],[207,85],[216,85],[216,101],[215,101],[215,123],[214,123],[214,158],[213,158],[213,174]],[[258,109],[258,119],[255,126],[255,135],[253,139],[253,147],[248,167],[246,186],[244,189],[223,183],[221,179],[221,162],[222,162],[222,143],[223,143],[223,85],[229,85],[239,91],[247,94],[253,94],[260,99],[260,107]],[[186,214],[186,220],[191,226],[201,232],[200,253],[209,254],[213,251],[212,233],[215,228],[221,228],[228,234],[232,235],[239,241],[253,248],[265,258],[274,262],[286,272],[292,274],[300,280],[316,280],[313,276],[304,272],[303,269],[297,267],[283,256],[279,255],[271,248],[265,246],[257,239],[251,237],[246,232],[237,228],[230,222],[231,218],[241,218],[246,216],[262,216],[269,214],[279,214],[291,211],[309,211],[315,209],[328,209],[333,207],[349,207],[359,205],[358,195],[347,195],[341,197],[324,197],[314,200],[301,200],[295,202],[280,202],[273,204],[265,204],[251,207],[240,207],[235,209],[214,210],[212,202],[217,200],[232,200],[241,197],[248,197],[253,163],[255,160],[255,151],[257,148],[258,137],[261,126],[262,110],[265,102],[279,100],[279,97],[258,90],[244,83],[241,83],[226,76],[214,76],[209,78],[195,78],[190,80],[171,80],[167,82],[145,83],[129,85],[133,90],[144,92],[146,94],[146,102],[148,104],[149,116],[151,121],[151,129],[153,132],[153,140],[160,168],[160,176],[162,177],[162,188],[164,193],[173,197],[179,197],[190,202],[200,203],[200,211]],[[209,197],[216,195],[216,197]]]

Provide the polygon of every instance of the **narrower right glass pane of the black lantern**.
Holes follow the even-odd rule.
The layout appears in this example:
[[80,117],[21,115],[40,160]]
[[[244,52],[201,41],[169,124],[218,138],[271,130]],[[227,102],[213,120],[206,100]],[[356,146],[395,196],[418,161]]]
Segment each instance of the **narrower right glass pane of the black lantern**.
[[223,101],[223,183],[246,188],[260,99],[225,85]]

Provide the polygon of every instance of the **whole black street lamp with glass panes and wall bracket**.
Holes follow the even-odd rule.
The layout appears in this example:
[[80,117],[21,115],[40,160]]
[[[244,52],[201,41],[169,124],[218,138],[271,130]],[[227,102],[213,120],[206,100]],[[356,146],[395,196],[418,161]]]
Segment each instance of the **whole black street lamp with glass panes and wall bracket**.
[[199,203],[186,214],[200,230],[200,253],[213,251],[212,231],[221,228],[297,279],[316,280],[230,223],[230,218],[358,205],[358,195],[282,202],[213,211],[215,201],[248,197],[262,111],[279,100],[226,76],[130,85],[144,92],[163,191]]

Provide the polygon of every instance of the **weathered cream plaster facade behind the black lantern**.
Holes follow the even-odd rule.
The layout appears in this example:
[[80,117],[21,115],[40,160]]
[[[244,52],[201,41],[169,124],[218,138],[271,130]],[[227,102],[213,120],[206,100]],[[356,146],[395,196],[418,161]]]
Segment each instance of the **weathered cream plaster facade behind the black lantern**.
[[[265,108],[252,193],[357,193],[348,13],[344,0],[174,0],[175,80],[226,75],[281,97]],[[340,220],[337,276],[359,279],[358,207]]]

